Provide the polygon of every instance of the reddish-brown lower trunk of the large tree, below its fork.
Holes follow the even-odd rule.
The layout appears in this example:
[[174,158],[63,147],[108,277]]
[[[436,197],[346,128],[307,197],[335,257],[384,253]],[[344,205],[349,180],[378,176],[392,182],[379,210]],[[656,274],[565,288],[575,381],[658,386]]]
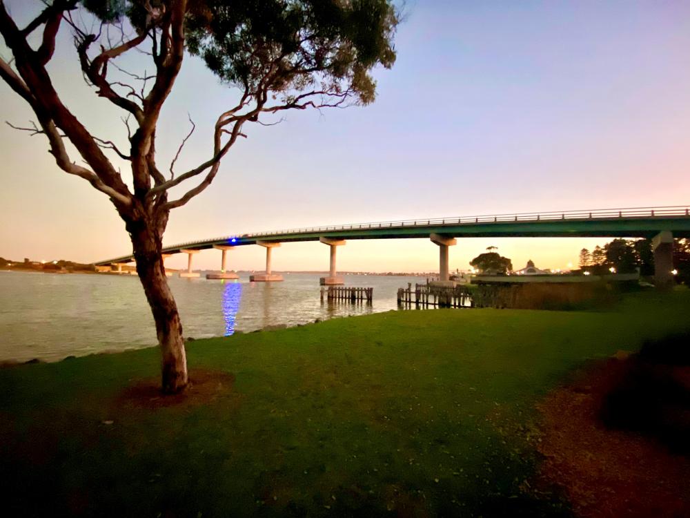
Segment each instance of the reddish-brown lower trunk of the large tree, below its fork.
[[[137,274],[156,323],[162,356],[162,390],[177,394],[187,385],[187,357],[182,338],[182,323],[172,296],[161,257],[162,238],[150,223],[128,224]],[[132,228],[135,227],[135,228]]]

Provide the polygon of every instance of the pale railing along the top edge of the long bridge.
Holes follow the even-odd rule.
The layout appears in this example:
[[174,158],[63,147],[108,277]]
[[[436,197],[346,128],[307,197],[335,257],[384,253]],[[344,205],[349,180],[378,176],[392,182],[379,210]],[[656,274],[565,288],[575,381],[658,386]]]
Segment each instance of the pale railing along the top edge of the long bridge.
[[[676,205],[672,207],[630,207],[627,209],[592,209],[581,211],[553,211],[553,212],[522,212],[504,213],[490,215],[460,216],[455,218],[418,218],[416,220],[397,220],[385,222],[355,223],[327,225],[326,227],[303,227],[301,229],[284,229],[270,232],[255,232],[246,234],[235,234],[233,236],[219,236],[212,239],[201,239],[175,244],[164,247],[165,251],[174,251],[184,248],[194,247],[197,244],[226,243],[234,239],[260,239],[272,236],[283,236],[285,234],[305,234],[322,233],[346,230],[367,230],[367,229],[395,229],[406,227],[439,227],[457,226],[462,224],[486,224],[486,223],[506,223],[506,222],[534,222],[534,221],[554,221],[554,220],[600,220],[618,218],[671,218],[671,217],[690,216],[689,205]],[[123,256],[106,262],[117,262],[131,256]]]

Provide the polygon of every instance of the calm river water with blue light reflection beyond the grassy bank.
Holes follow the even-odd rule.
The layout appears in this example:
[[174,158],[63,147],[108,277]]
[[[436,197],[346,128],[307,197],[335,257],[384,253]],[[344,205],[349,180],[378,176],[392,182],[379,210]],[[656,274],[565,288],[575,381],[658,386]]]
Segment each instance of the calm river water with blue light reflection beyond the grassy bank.
[[[397,289],[417,277],[344,276],[373,287],[373,304],[324,303],[319,274],[284,274],[283,282],[169,278],[184,335],[227,336],[270,325],[305,324],[397,309]],[[424,279],[426,280],[426,279]],[[0,361],[56,361],[155,345],[155,326],[137,276],[0,271]]]

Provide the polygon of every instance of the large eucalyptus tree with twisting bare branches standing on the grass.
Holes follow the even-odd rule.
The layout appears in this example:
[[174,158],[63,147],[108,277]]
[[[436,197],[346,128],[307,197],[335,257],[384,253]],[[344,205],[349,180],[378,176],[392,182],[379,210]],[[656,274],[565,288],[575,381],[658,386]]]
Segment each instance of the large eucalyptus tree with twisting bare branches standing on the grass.
[[[266,124],[288,110],[371,103],[373,68],[395,61],[397,22],[390,0],[43,0],[20,26],[0,0],[0,35],[10,53],[0,59],[0,77],[35,114],[37,122],[22,129],[44,135],[57,166],[108,196],[124,220],[156,323],[165,392],[188,383],[182,326],[161,258],[170,211],[213,182],[246,124]],[[128,148],[95,136],[63,102],[50,75],[60,30],[70,31],[95,95],[131,121]],[[117,61],[133,53],[146,59],[148,73],[126,70],[130,81],[123,81],[114,73]],[[207,159],[175,174],[172,164],[159,164],[156,140],[161,108],[188,57],[203,59],[237,102],[219,113]],[[115,157],[128,162],[130,182]],[[184,193],[175,198],[170,189],[181,185]]]

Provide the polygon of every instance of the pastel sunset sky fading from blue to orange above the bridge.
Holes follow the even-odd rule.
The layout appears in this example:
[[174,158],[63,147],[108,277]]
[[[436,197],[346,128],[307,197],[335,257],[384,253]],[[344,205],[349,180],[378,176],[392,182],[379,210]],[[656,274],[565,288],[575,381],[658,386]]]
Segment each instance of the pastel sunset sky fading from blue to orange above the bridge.
[[[6,0],[24,21],[39,1]],[[493,213],[653,207],[690,199],[690,2],[408,1],[397,61],[376,70],[370,106],[286,113],[245,126],[213,184],[175,209],[164,244],[326,224]],[[0,44],[0,54],[8,52]],[[141,55],[128,68],[143,70]],[[124,115],[81,79],[67,30],[50,72],[65,104],[101,138],[124,143]],[[187,57],[159,124],[159,164],[197,131],[179,171],[207,160],[215,119],[237,91]],[[0,81],[0,120],[35,117]],[[95,262],[130,253],[108,198],[57,168],[44,137],[0,126],[0,256]],[[124,164],[118,164],[124,169]],[[126,172],[124,172],[125,174]],[[458,239],[451,269],[486,247],[520,268],[577,264],[607,240]],[[220,252],[194,258],[218,269]],[[166,261],[186,267],[186,255]],[[233,269],[264,265],[240,247]],[[351,241],[348,271],[433,271],[429,240]],[[326,270],[328,247],[286,243],[274,270]]]

